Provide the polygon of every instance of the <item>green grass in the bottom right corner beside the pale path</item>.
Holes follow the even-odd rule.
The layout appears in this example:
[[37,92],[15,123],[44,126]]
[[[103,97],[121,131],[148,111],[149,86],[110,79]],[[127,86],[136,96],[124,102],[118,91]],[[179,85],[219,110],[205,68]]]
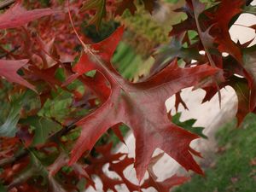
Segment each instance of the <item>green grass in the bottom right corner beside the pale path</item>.
[[255,118],[255,114],[248,114],[239,129],[236,120],[221,127],[216,134],[218,149],[205,167],[207,177],[193,175],[189,183],[173,191],[253,191],[256,188]]

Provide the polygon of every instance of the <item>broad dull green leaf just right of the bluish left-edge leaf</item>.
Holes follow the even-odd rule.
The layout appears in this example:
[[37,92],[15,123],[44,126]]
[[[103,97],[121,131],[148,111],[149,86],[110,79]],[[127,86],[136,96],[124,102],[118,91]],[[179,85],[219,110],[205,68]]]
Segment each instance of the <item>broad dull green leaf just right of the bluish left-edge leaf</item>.
[[30,116],[27,119],[21,119],[20,124],[34,127],[35,134],[32,145],[45,143],[50,135],[54,134],[56,131],[60,131],[62,128],[61,125],[55,121],[39,116]]

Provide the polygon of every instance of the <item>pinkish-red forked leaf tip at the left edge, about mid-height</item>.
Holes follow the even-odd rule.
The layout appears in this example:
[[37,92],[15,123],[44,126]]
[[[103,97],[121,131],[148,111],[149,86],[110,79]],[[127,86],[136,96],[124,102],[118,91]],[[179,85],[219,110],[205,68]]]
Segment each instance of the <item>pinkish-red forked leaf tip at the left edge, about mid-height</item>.
[[35,90],[32,84],[28,83],[25,79],[22,79],[20,75],[17,74],[18,69],[25,66],[26,63],[27,60],[0,60],[0,76],[3,76],[9,82],[21,84],[29,89]]

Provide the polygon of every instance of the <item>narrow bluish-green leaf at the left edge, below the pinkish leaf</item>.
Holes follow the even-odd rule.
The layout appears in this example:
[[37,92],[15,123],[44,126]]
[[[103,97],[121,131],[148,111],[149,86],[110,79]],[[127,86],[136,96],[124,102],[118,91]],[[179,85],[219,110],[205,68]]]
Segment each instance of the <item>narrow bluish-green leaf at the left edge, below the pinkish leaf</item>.
[[15,137],[17,131],[17,123],[20,119],[20,110],[30,102],[35,93],[32,90],[27,90],[23,95],[18,96],[11,102],[9,115],[4,124],[0,126],[1,137]]

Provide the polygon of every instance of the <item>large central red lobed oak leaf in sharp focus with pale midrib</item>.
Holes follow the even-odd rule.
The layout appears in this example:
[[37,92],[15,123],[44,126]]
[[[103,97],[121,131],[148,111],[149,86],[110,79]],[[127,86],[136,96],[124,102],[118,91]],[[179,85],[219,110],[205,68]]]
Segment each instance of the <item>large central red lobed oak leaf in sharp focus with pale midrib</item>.
[[[101,53],[101,50],[97,51]],[[104,62],[101,55],[96,55],[97,51],[88,51],[89,63],[94,61],[95,69],[104,74],[112,90],[102,107],[77,123],[82,127],[82,132],[72,150],[69,164],[79,160],[85,151],[90,151],[108,128],[122,122],[131,127],[136,137],[135,168],[139,180],[143,178],[156,148],[164,150],[186,170],[202,174],[191,155],[195,151],[189,147],[189,143],[198,137],[172,124],[166,113],[165,102],[179,90],[199,83],[218,70],[207,64],[180,68],[177,61],[172,61],[147,81],[131,84],[122,79],[110,63]]]

